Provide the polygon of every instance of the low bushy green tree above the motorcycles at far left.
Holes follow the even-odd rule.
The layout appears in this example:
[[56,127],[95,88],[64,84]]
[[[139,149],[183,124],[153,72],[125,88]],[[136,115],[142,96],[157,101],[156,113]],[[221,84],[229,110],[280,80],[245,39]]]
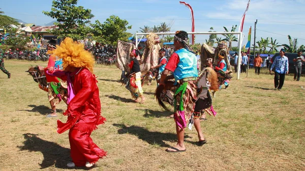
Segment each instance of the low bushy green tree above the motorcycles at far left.
[[10,28],[8,29],[7,33],[9,36],[4,41],[6,45],[13,46],[14,49],[24,49],[26,43],[30,42],[31,39],[28,36],[23,34],[17,34],[17,29]]

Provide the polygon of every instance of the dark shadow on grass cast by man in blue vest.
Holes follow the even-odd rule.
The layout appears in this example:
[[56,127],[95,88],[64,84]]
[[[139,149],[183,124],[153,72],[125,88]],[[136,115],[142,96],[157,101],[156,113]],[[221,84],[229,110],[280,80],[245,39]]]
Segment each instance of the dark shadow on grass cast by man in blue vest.
[[147,129],[138,126],[127,127],[124,124],[113,124],[113,126],[121,128],[117,130],[118,134],[133,134],[150,145],[158,145],[160,147],[170,147],[170,145],[164,143],[164,140],[174,142],[177,138],[177,135],[173,133],[148,131]]

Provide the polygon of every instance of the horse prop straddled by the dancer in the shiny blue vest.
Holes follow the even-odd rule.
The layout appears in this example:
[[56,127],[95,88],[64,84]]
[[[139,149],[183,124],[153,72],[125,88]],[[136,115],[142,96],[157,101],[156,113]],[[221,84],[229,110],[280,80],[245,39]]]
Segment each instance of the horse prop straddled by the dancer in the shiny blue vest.
[[[173,105],[174,102],[174,92],[176,86],[174,81],[165,81],[165,84],[161,84],[155,92],[155,97],[158,104],[165,110],[169,110],[164,102]],[[195,105],[195,112],[207,111],[209,115],[216,115],[216,112],[212,108],[212,98],[209,93],[209,89],[215,90],[218,88],[218,78],[217,73],[212,68],[205,68],[199,73],[196,80],[197,84],[197,100]],[[210,107],[210,110],[208,109]]]

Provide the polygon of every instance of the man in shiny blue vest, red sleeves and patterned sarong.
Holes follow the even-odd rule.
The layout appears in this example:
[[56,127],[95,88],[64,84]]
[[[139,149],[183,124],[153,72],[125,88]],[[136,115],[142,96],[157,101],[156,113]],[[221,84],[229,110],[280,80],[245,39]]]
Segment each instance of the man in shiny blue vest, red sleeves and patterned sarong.
[[[175,51],[169,59],[165,70],[162,72],[160,86],[164,86],[165,78],[175,78],[178,84],[175,91],[174,103],[174,120],[176,124],[176,132],[178,142],[175,146],[166,149],[169,153],[185,152],[184,133],[187,123],[194,116],[194,126],[198,133],[199,144],[206,143],[201,132],[200,113],[199,116],[194,114],[195,101],[197,99],[196,80],[198,77],[197,58],[191,51],[188,44],[188,33],[185,31],[177,31],[174,36]],[[172,71],[173,75],[167,76]],[[177,83],[179,81],[179,83]]]

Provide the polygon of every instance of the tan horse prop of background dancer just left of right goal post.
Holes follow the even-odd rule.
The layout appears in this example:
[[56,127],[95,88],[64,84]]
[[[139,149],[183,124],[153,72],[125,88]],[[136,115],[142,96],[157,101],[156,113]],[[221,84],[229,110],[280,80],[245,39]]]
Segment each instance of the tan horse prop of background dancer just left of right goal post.
[[[230,80],[232,78],[232,67],[228,58],[229,49],[227,47],[227,44],[226,42],[221,41],[218,43],[215,49],[207,45],[206,43],[203,43],[203,45],[201,46],[201,68],[214,68],[214,66],[217,66],[219,62],[218,55],[224,56],[224,60],[227,64],[227,71],[220,70],[219,72],[217,72],[218,84],[220,87],[222,84],[224,84],[225,80]],[[212,90],[213,97],[216,96],[215,93],[219,90],[219,87],[217,87],[216,89],[210,89]]]

